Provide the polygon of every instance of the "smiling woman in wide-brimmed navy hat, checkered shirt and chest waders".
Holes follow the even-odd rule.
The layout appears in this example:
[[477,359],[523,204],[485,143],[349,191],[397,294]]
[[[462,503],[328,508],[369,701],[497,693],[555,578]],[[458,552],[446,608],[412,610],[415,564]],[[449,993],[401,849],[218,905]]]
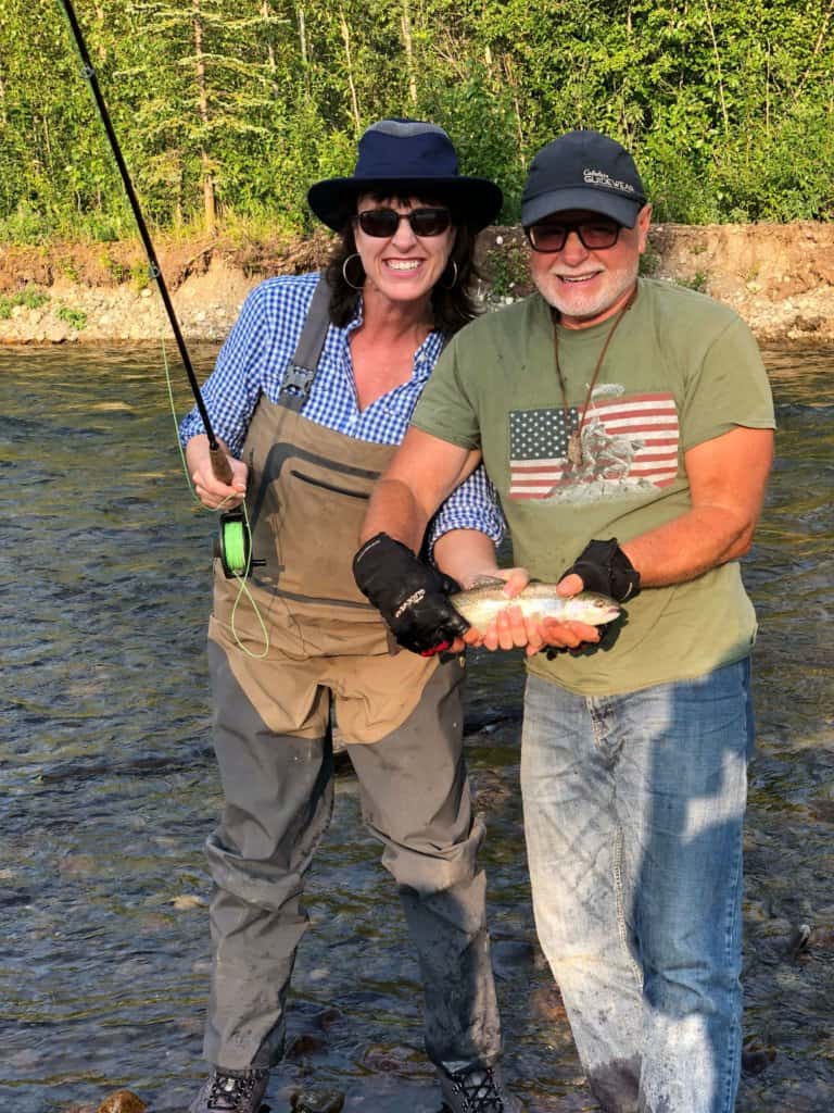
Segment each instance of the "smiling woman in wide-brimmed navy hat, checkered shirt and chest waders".
[[[190,1110],[255,1113],[280,1058],[304,878],[332,808],[332,716],[419,954],[444,1099],[453,1113],[519,1113],[497,1067],[461,666],[398,650],[350,569],[370,487],[443,344],[474,315],[475,235],[502,195],[458,174],[440,128],[381,120],[354,175],[317,183],[309,203],[340,235],[326,276],[258,286],[206,384],[231,485],[212,474],[199,417],[182,424],[199,498],[226,509],[246,494],[264,562],[249,581],[258,618],[246,603],[232,613],[239,584],[216,561],[209,668],[226,802],[207,843],[212,1070]],[[434,536],[460,529],[485,545],[500,534],[483,474]]]

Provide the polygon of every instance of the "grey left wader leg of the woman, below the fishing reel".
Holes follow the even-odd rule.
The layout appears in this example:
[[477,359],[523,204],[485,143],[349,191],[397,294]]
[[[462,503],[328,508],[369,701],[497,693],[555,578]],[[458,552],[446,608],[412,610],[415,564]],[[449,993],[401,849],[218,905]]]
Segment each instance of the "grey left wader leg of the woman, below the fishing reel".
[[216,889],[203,1050],[227,1070],[269,1067],[284,1050],[285,999],[308,926],[304,879],[332,814],[332,749],[329,739],[269,730],[214,642],[209,667],[225,808],[206,844]]

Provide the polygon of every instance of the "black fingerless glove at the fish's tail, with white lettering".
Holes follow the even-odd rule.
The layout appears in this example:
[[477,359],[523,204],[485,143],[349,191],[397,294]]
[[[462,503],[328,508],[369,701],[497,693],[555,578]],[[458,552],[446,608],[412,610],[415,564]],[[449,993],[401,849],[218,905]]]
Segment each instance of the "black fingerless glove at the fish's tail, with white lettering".
[[354,556],[354,579],[398,644],[413,653],[440,653],[469,629],[447,599],[459,585],[387,533],[377,533]]

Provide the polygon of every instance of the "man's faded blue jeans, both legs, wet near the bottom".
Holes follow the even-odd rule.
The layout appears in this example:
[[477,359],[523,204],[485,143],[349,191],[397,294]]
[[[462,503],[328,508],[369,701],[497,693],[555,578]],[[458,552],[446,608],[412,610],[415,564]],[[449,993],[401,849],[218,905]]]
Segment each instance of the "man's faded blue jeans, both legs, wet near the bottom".
[[588,698],[529,677],[522,791],[542,947],[608,1113],[732,1113],[749,661]]

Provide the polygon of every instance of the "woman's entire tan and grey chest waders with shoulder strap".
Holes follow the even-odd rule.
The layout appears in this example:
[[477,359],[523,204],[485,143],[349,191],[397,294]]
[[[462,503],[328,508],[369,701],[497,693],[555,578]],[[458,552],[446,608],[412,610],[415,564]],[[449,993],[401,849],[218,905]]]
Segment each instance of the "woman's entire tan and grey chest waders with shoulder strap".
[[[288,381],[309,390],[328,327],[319,283]],[[332,811],[330,701],[417,949],[425,1041],[438,1067],[492,1064],[500,1037],[463,752],[463,667],[391,647],[350,570],[367,500],[394,449],[301,417],[304,397],[261,400],[244,447],[250,467],[250,590],[269,652],[231,634],[238,592],[216,561],[209,668],[225,808],[207,840],[216,890],[205,1053],[227,1070],[281,1056],[285,999],[307,928],[304,879]],[[238,638],[262,651],[244,603]],[[374,745],[365,745],[373,742]],[[335,961],[337,961],[335,958]]]

